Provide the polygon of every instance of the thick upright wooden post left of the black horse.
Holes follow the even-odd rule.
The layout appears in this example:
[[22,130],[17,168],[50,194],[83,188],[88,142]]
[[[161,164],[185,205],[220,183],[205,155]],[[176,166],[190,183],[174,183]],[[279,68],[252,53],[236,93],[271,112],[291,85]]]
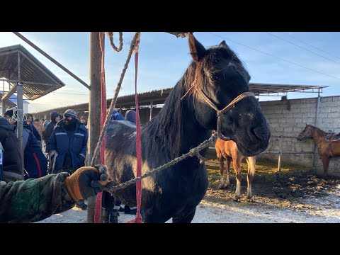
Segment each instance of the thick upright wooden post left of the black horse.
[[[89,98],[89,156],[90,164],[94,149],[101,134],[101,47],[99,45],[99,32],[90,33],[90,98]],[[99,163],[99,162],[97,162]],[[94,209],[96,197],[87,200],[87,222],[94,223]]]

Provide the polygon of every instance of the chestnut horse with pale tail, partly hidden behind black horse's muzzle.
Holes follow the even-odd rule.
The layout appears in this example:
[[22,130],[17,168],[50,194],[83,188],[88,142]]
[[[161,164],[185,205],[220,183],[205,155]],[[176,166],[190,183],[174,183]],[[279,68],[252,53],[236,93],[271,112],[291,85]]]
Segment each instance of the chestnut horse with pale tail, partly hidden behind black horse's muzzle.
[[[217,154],[218,162],[220,163],[220,174],[221,174],[221,183],[218,188],[225,188],[230,185],[229,182],[229,169],[230,163],[233,162],[235,176],[237,180],[235,195],[232,198],[234,201],[237,201],[241,196],[241,180],[242,180],[242,171],[241,171],[241,162],[242,159],[246,158],[246,163],[248,163],[248,188],[246,193],[246,198],[253,201],[253,194],[251,193],[251,181],[254,178],[255,174],[255,164],[256,157],[245,157],[237,148],[237,145],[234,141],[224,141],[220,138],[217,138],[215,143],[215,149]],[[227,164],[225,166],[225,170],[227,171],[227,179],[225,179],[225,171],[224,171],[224,161],[227,160]]]

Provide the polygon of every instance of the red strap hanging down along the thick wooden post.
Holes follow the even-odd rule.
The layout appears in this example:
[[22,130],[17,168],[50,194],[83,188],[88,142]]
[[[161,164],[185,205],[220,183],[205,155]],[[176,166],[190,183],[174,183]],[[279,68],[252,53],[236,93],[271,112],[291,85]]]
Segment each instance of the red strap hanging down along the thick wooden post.
[[[104,41],[105,33],[99,33],[99,45],[101,46],[101,130],[106,120],[106,82],[105,82],[105,67],[104,67]],[[103,137],[101,144],[101,164],[104,164],[104,151],[105,151],[106,135]],[[103,193],[99,192],[96,200],[96,209],[94,215],[94,223],[101,222],[101,203],[103,200]]]

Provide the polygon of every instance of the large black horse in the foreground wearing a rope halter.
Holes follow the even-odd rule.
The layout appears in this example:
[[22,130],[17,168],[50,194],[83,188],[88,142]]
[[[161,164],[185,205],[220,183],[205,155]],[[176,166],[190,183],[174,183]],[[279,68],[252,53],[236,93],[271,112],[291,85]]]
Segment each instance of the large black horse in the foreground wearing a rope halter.
[[[216,109],[225,108],[249,91],[249,73],[225,41],[208,49],[191,33],[188,41],[193,61],[159,114],[141,130],[143,173],[208,139],[217,126]],[[244,156],[257,155],[268,147],[271,133],[254,96],[244,98],[223,113],[220,124],[222,135],[231,137]],[[135,126],[125,121],[111,121],[106,132],[105,163],[109,178],[118,183],[135,178],[135,131]],[[206,151],[201,151],[203,157]],[[135,187],[114,191],[113,197],[135,206]],[[171,217],[173,222],[191,222],[207,188],[208,174],[197,157],[189,157],[143,179],[144,222],[166,222]],[[110,193],[104,194],[107,215],[113,207],[109,196]]]

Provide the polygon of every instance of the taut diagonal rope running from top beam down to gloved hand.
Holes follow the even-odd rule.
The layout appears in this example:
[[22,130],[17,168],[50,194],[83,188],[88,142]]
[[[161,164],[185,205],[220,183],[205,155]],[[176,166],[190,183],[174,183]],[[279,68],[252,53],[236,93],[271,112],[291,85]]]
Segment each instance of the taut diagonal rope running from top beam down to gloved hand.
[[91,166],[95,165],[96,159],[98,157],[99,148],[101,147],[101,143],[103,142],[103,136],[106,134],[106,130],[108,129],[108,122],[110,120],[110,116],[111,116],[111,113],[113,111],[113,108],[115,108],[115,103],[116,103],[117,98],[118,98],[120,87],[122,86],[122,82],[123,82],[123,79],[124,79],[124,76],[125,76],[125,72],[126,72],[126,69],[128,69],[128,65],[129,65],[129,62],[130,62],[130,59],[131,59],[132,51],[135,48],[136,41],[137,41],[137,38],[138,38],[139,35],[140,35],[140,32],[136,32],[134,37],[132,38],[131,47],[130,47],[130,50],[129,50],[129,53],[128,53],[128,58],[127,58],[127,60],[124,64],[123,72],[122,72],[122,74],[120,74],[120,79],[118,81],[117,87],[115,88],[115,95],[113,96],[113,99],[111,101],[110,108],[108,108],[108,114],[106,115],[106,120],[105,120],[105,123],[103,125],[103,129],[101,130],[101,135],[99,136],[99,139],[98,139],[98,142],[97,142],[97,145],[96,145],[96,149],[94,149],[94,156],[91,159]]

